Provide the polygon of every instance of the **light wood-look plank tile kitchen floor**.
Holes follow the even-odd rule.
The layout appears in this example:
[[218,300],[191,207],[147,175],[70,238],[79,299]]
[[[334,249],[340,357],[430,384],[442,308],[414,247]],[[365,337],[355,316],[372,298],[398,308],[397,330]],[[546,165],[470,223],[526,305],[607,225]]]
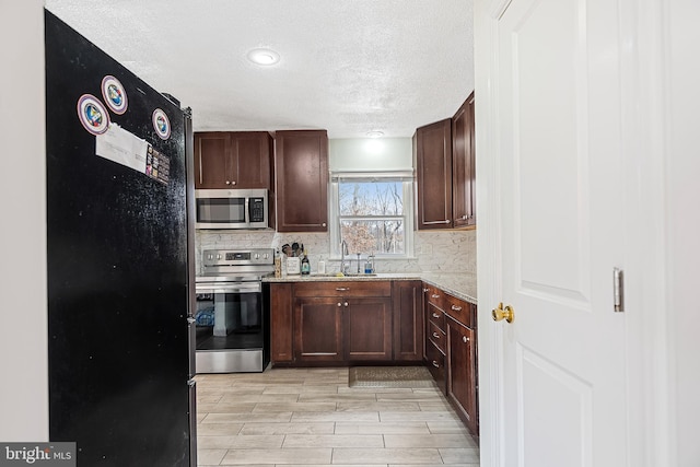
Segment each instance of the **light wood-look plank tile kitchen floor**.
[[438,387],[348,387],[348,369],[197,377],[199,466],[478,467]]

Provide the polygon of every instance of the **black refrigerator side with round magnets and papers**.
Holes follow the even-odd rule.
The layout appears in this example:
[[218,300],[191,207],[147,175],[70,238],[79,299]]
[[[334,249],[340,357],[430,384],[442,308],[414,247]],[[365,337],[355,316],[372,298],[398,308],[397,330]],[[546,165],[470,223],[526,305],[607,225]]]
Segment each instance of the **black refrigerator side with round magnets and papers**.
[[50,441],[196,465],[189,109],[45,21]]

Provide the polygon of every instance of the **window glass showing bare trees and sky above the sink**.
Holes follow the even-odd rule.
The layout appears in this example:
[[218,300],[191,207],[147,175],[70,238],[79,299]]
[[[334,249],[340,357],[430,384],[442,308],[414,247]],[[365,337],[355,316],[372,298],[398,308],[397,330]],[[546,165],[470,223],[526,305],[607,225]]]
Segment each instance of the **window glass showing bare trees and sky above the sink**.
[[339,180],[340,235],[351,253],[405,254],[401,182]]

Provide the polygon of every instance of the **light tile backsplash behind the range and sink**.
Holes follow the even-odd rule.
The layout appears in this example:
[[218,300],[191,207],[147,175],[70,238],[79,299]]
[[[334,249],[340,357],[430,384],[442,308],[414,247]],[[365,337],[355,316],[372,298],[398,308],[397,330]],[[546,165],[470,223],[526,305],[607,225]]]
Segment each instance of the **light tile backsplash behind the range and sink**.
[[[471,231],[419,231],[413,238],[415,257],[411,259],[382,259],[375,262],[377,272],[471,272],[477,267],[477,233]],[[303,243],[308,250],[312,273],[320,259],[326,271],[335,272],[339,259],[330,259],[327,233],[278,233],[275,231],[197,231],[195,247],[197,272],[201,272],[201,254],[205,249],[223,248],[279,248],[285,243]],[[350,255],[355,258],[355,255]],[[363,259],[365,256],[362,257]],[[352,261],[351,270],[355,268]]]

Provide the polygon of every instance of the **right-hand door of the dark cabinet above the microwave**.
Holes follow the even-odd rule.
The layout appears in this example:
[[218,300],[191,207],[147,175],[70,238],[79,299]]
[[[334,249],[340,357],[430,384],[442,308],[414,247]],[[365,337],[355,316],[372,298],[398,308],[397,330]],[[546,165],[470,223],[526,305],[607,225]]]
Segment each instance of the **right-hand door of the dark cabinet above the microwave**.
[[231,133],[231,177],[236,188],[271,188],[271,137],[267,131]]

